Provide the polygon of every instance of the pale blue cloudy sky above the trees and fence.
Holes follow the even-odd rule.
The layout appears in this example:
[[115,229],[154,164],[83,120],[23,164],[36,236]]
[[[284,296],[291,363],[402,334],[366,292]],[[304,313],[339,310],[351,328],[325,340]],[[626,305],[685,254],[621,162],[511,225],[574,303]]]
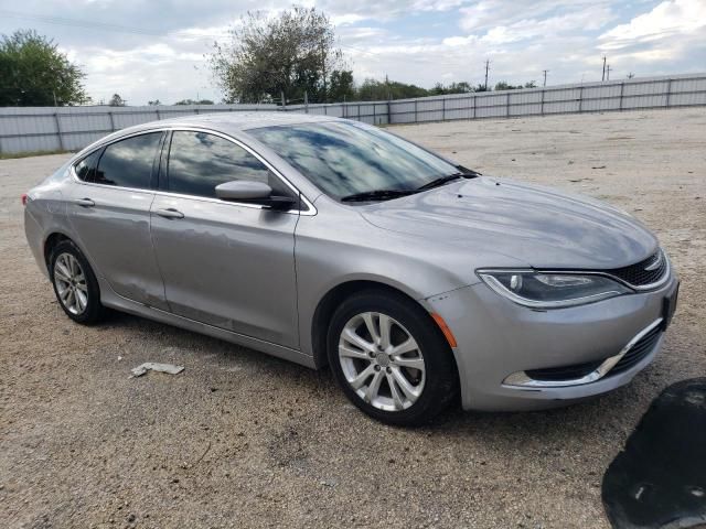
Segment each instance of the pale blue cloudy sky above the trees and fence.
[[[354,78],[547,85],[706,72],[706,0],[322,0]],[[34,29],[86,74],[94,102],[213,99],[206,55],[279,0],[0,0],[0,33]]]

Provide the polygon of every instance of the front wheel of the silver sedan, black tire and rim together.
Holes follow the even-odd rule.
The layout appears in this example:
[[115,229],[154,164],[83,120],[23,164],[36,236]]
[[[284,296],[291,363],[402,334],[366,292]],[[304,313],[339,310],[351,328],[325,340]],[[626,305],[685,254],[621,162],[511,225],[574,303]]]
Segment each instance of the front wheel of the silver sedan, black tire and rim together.
[[344,301],[328,336],[329,363],[346,397],[396,425],[430,421],[458,395],[452,352],[413,301],[368,291]]

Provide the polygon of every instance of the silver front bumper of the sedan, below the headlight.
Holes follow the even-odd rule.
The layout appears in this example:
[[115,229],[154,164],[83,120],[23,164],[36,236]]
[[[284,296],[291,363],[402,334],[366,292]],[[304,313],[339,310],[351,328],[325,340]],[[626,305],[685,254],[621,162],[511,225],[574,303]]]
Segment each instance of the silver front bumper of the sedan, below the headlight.
[[[536,311],[478,283],[426,300],[450,327],[464,409],[514,411],[567,404],[628,384],[654,358],[661,332],[629,368],[611,373],[653,326],[664,326],[664,300],[678,281],[660,289],[587,305]],[[610,365],[608,359],[614,360]],[[534,384],[527,371],[571,365],[601,366],[586,378]],[[598,368],[598,367],[597,367]],[[523,377],[523,374],[525,376]]]

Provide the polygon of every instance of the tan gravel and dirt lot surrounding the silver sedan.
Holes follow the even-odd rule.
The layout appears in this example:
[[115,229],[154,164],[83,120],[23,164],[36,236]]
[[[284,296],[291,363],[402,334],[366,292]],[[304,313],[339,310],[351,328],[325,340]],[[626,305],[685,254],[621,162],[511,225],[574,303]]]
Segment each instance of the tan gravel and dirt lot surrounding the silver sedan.
[[[706,373],[706,109],[395,130],[656,230],[683,284],[655,363],[568,409],[387,428],[328,371],[127,315],[71,323],[19,201],[66,156],[0,161],[0,527],[607,527],[603,471],[665,386]],[[128,378],[148,360],[186,369]]]

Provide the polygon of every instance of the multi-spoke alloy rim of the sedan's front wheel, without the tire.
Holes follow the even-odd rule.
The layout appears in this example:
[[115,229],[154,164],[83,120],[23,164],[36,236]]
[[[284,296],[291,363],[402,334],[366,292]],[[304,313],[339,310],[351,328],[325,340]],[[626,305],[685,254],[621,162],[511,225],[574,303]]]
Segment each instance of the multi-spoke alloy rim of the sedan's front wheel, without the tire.
[[421,349],[387,314],[364,312],[349,320],[339,338],[339,360],[355,393],[379,410],[405,410],[424,391]]

